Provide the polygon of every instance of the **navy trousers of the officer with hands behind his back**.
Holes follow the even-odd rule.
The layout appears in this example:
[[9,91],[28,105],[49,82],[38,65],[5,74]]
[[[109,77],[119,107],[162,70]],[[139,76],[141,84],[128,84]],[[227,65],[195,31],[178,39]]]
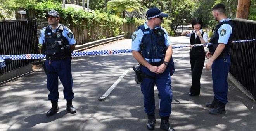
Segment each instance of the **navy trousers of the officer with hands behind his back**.
[[50,91],[48,99],[51,101],[58,101],[59,99],[59,79],[64,87],[63,94],[66,100],[74,98],[72,90],[73,79],[71,74],[71,59],[68,57],[64,60],[49,60],[45,61],[46,69],[50,72],[57,72],[55,74],[47,74],[47,89]]

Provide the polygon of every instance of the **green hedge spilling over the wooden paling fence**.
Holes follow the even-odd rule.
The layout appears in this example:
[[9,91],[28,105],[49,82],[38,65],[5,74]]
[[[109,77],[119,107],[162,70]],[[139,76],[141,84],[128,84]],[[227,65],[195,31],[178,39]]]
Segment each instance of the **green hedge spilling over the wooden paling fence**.
[[[102,27],[101,29],[103,32],[106,29],[109,29],[112,36],[118,36],[121,34],[123,24],[138,24],[142,21],[137,19],[129,21],[116,15],[111,15],[110,13],[101,13],[99,10],[96,10],[95,12],[84,12],[81,9],[72,7],[62,8],[62,3],[55,0],[43,1],[41,3],[37,3],[35,6],[32,5],[33,4],[26,6],[27,8],[25,8],[25,10],[33,10],[36,18],[43,18],[48,11],[56,10],[61,16],[60,23],[67,27],[81,27],[91,30],[96,26],[100,26]],[[84,25],[85,22],[86,25]],[[102,36],[101,34],[98,37],[103,38],[106,36]]]

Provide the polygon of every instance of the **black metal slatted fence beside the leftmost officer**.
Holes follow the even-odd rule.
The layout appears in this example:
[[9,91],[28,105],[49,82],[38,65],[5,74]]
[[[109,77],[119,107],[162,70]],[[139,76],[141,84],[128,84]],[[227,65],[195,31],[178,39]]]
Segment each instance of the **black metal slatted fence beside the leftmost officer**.
[[[0,55],[37,54],[39,50],[36,27],[36,20],[0,22]],[[35,60],[12,60],[12,64],[0,70],[6,73]]]

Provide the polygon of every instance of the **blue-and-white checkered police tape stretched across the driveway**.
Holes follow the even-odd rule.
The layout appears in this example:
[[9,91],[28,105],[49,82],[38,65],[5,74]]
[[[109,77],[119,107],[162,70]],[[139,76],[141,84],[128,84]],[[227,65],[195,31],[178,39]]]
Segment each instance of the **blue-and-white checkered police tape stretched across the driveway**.
[[[237,42],[249,42],[253,40],[237,40],[232,41],[232,43]],[[195,45],[182,45],[182,46],[173,46],[175,48],[185,48],[185,47],[197,47],[202,45],[211,45],[211,43],[206,44],[195,44]],[[96,51],[81,51],[81,52],[72,52],[73,57],[79,56],[90,56],[90,55],[109,55],[109,54],[120,54],[120,53],[129,53],[132,52],[131,49],[118,49],[118,50],[96,50]],[[46,55],[43,54],[23,54],[23,55],[0,55],[0,59],[10,58],[12,60],[26,60],[26,59],[44,59]]]

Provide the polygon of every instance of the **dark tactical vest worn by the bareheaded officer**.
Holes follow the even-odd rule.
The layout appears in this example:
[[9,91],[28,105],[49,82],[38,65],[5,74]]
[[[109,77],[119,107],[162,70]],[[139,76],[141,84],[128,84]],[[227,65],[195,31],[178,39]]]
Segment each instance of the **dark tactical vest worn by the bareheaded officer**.
[[209,48],[209,51],[211,53],[214,53],[215,50],[217,49],[217,47],[218,47],[218,40],[219,40],[218,29],[223,24],[228,24],[228,25],[230,25],[232,27],[232,33],[230,34],[230,37],[228,39],[228,43],[227,43],[227,45],[225,46],[224,50],[221,53],[221,55],[228,55],[229,54],[229,50],[230,50],[230,44],[231,44],[231,41],[232,41],[232,39],[234,37],[234,24],[233,24],[232,20],[225,20],[225,21],[219,23],[218,25],[216,25],[216,29],[214,30],[214,35],[213,35],[213,37],[211,37],[211,40],[210,40],[212,45],[209,45],[208,48]]

